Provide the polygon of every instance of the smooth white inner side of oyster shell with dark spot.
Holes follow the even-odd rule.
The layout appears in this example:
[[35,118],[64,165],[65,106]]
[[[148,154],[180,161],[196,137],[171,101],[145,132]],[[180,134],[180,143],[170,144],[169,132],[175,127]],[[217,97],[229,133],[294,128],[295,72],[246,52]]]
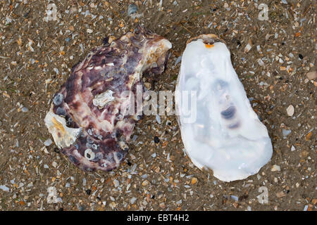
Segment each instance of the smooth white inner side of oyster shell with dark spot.
[[200,169],[235,181],[256,174],[271,159],[268,131],[251,108],[230,51],[216,35],[189,40],[175,104],[187,155]]

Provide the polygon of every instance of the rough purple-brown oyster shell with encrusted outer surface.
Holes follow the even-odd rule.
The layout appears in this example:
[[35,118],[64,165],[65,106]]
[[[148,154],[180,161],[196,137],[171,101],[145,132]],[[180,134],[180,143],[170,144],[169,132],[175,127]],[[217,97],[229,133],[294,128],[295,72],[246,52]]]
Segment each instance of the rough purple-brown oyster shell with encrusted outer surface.
[[[45,124],[77,167],[109,171],[127,154],[135,125],[131,95],[142,72],[163,72],[170,41],[138,27],[88,53],[54,95]],[[137,113],[137,112],[135,112]]]

